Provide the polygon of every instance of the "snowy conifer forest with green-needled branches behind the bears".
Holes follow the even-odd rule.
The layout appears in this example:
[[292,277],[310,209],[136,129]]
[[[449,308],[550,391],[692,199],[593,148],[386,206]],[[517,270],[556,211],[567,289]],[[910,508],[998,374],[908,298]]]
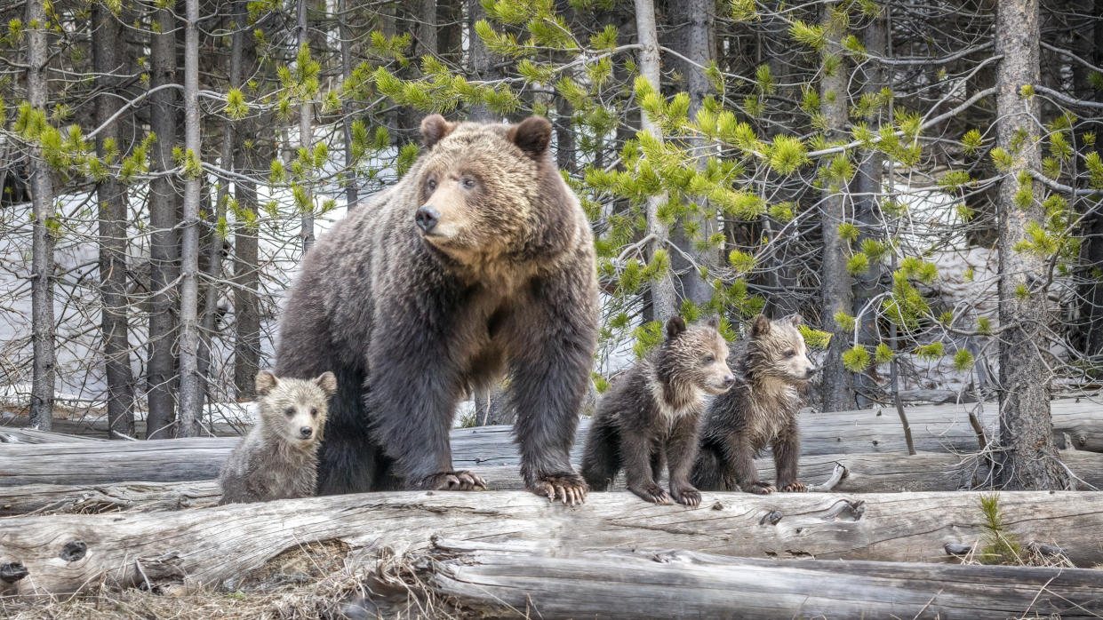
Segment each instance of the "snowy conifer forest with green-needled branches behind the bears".
[[1103,0],[0,0],[4,407],[212,432],[433,111],[552,120],[592,397],[673,313],[799,312],[814,409],[995,402],[1007,485],[1063,485],[1049,399],[1103,374]]

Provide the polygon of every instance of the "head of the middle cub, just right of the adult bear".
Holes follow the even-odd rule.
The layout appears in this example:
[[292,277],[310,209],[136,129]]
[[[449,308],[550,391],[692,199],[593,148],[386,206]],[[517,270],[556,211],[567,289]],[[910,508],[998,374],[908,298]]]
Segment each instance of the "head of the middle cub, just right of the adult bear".
[[719,327],[717,317],[688,328],[682,317],[671,317],[658,353],[660,375],[709,394],[727,392],[736,377],[728,367],[728,343]]

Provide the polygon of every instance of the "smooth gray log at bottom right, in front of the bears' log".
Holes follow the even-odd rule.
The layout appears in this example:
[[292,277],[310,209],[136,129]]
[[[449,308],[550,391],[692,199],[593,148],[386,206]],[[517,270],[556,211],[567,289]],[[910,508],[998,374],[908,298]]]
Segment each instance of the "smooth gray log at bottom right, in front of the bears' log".
[[511,618],[1097,618],[1088,568],[772,562],[686,550],[556,552],[436,541],[419,584]]

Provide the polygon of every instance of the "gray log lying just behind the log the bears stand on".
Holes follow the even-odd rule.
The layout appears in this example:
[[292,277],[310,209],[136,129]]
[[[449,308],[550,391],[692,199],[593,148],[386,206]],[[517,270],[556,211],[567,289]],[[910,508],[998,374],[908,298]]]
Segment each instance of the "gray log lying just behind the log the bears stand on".
[[[1065,450],[1064,464],[1093,490],[1103,489],[1103,455]],[[801,458],[800,479],[810,484],[829,480],[835,466],[846,475],[831,490],[848,493],[898,491],[956,491],[984,482],[988,469],[976,457],[946,452],[897,455],[826,455]],[[773,460],[759,459],[763,480],[773,480]],[[514,466],[474,467],[492,491],[521,491],[524,484]],[[1082,488],[1091,489],[1081,484]],[[612,489],[623,489],[618,477]],[[32,512],[98,514],[152,512],[214,505],[221,498],[214,480],[182,482],[117,482],[108,484],[24,484],[0,487],[0,516]]]

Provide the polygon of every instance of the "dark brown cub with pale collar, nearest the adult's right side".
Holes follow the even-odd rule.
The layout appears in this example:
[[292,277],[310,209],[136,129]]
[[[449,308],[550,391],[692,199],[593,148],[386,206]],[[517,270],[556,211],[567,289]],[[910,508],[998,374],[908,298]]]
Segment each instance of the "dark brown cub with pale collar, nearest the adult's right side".
[[[696,506],[689,483],[698,426],[707,395],[728,389],[735,377],[725,361],[728,344],[719,321],[686,329],[681,317],[666,322],[666,340],[618,381],[601,399],[586,438],[582,477],[604,491],[623,468],[630,491],[649,502]],[[671,493],[657,484],[663,459]]]

